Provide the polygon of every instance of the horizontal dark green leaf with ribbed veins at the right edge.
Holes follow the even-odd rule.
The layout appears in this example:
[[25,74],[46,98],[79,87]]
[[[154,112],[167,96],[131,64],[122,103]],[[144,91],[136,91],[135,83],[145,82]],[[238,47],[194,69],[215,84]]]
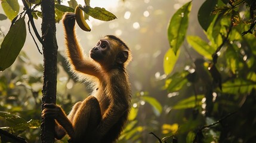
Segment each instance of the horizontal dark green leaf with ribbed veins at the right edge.
[[227,94],[249,94],[256,88],[256,83],[246,79],[228,80],[222,84],[222,91]]

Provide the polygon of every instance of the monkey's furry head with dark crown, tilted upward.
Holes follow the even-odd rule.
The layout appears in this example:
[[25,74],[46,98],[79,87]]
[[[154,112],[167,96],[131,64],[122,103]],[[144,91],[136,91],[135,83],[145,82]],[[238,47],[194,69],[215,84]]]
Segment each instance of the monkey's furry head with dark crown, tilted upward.
[[124,68],[131,61],[131,52],[121,39],[107,35],[91,49],[90,57],[106,69]]

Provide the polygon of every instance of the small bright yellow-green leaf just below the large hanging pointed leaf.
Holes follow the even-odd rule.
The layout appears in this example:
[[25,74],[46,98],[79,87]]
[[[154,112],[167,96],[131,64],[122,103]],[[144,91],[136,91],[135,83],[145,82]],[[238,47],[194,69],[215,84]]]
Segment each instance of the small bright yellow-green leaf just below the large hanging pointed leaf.
[[173,49],[168,49],[164,57],[165,74],[170,74],[172,72],[179,56],[180,56],[180,50],[178,50],[177,54],[175,55]]

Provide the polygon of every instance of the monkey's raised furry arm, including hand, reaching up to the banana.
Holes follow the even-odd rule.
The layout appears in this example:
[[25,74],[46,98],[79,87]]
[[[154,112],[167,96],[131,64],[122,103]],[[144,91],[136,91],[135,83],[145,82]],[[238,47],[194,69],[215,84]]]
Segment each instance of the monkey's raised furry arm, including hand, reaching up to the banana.
[[75,14],[66,13],[63,18],[64,34],[67,46],[67,57],[72,69],[81,73],[90,74],[98,77],[100,74],[99,67],[85,57],[81,46],[78,43],[75,33]]

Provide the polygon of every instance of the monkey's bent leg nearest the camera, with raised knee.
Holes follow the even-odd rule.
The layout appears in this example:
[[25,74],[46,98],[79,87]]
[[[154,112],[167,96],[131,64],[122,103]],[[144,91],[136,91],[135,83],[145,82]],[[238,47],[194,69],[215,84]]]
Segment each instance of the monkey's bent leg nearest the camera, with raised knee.
[[100,104],[97,98],[87,97],[73,117],[75,138],[72,142],[95,142],[95,131],[101,120]]

